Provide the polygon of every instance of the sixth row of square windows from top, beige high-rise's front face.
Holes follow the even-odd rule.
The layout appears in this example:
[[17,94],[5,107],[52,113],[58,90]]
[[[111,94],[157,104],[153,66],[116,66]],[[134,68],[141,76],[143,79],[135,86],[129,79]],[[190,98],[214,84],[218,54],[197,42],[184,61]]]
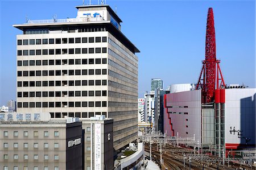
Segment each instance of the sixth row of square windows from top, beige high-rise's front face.
[[17,97],[74,97],[74,96],[106,96],[106,90],[92,91],[55,91],[55,92],[17,92]]

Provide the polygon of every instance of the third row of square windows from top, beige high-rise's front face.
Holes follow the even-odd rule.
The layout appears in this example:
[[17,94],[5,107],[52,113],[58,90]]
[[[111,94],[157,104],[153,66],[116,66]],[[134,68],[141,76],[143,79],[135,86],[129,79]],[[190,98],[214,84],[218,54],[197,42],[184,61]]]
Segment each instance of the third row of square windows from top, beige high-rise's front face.
[[32,65],[74,65],[74,64],[106,64],[107,60],[104,59],[63,59],[63,60],[18,60],[18,66]]

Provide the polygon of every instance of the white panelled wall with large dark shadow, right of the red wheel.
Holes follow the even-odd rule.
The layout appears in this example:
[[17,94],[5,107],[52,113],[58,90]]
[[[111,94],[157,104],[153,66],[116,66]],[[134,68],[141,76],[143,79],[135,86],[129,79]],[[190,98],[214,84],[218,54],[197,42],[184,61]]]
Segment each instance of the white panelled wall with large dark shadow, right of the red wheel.
[[247,144],[255,144],[256,89],[225,89],[225,91],[225,143],[246,144],[245,138],[247,138],[250,139]]

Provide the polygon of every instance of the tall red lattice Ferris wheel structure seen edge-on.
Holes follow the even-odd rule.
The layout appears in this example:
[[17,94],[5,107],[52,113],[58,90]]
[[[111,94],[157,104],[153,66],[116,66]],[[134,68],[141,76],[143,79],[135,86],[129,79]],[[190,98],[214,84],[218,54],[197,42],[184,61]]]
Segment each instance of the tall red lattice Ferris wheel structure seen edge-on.
[[[212,8],[208,9],[207,15],[207,33],[205,39],[205,60],[203,61],[203,68],[200,73],[199,81],[196,89],[202,89],[202,102],[209,103],[214,101],[215,84],[217,89],[225,86],[224,79],[218,65],[220,60],[216,60],[216,42],[215,42],[215,29]],[[216,64],[217,64],[217,77],[216,77]],[[221,78],[218,78],[220,73]],[[203,76],[203,78],[201,78]],[[216,81],[217,79],[217,81]],[[218,81],[221,80],[220,86]],[[201,82],[203,81],[203,82]]]

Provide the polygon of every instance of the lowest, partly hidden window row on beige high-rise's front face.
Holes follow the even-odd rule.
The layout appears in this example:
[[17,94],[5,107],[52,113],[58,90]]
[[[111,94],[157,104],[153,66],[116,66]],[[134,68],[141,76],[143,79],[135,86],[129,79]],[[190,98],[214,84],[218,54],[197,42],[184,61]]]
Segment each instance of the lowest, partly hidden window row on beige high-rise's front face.
[[[105,115],[106,116],[106,112],[63,112],[63,113],[59,113],[59,112],[56,112],[56,113],[50,113],[51,114],[51,118],[65,118],[65,117],[76,117],[76,118],[90,118],[90,117],[95,117],[95,115]],[[87,127],[87,131],[90,131],[88,130],[88,128],[90,127]]]

